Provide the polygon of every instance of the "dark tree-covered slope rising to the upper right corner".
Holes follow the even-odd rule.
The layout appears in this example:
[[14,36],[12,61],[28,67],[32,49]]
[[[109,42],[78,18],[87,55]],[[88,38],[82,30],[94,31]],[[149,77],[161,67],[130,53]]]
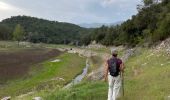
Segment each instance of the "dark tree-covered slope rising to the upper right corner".
[[119,26],[97,28],[88,41],[104,45],[152,45],[170,36],[170,0],[143,0],[138,14]]

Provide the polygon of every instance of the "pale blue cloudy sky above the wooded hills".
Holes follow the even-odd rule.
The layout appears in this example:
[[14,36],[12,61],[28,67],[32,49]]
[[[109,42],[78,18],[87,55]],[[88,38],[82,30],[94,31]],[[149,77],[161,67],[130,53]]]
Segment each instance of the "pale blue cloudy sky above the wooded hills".
[[69,23],[114,23],[130,19],[141,0],[0,0],[0,21],[27,15]]

